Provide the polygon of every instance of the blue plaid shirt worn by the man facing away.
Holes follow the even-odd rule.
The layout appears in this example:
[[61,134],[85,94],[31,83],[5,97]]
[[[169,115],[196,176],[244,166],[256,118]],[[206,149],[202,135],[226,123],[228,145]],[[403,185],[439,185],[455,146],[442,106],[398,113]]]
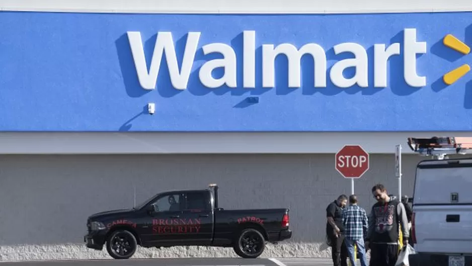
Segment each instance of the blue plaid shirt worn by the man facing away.
[[365,210],[357,205],[350,205],[343,210],[343,225],[346,237],[352,240],[363,239],[367,233],[368,221]]

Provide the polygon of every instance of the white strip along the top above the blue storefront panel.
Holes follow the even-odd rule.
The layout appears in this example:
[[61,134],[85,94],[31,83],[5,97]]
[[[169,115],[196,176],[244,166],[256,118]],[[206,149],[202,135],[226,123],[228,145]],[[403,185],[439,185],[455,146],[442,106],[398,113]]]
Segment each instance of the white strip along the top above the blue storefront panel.
[[468,0],[0,0],[0,11],[112,13],[398,13],[471,11]]

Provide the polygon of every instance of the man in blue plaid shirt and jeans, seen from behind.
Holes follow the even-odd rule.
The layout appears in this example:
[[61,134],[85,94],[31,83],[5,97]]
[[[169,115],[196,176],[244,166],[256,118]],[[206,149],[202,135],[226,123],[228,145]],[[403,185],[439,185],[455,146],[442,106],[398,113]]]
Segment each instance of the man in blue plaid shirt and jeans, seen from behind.
[[347,246],[351,266],[356,266],[354,260],[354,244],[357,245],[357,252],[362,266],[367,266],[365,256],[364,235],[367,233],[368,220],[365,210],[357,206],[357,196],[349,196],[349,207],[343,210],[343,225],[346,230],[345,243]]

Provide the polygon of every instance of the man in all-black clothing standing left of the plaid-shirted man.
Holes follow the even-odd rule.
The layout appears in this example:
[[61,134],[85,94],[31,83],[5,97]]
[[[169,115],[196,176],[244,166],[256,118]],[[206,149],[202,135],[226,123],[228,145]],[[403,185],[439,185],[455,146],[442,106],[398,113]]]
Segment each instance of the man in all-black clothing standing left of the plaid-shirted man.
[[347,196],[340,195],[326,208],[326,236],[331,246],[334,266],[347,266],[347,247],[344,243],[345,229],[343,226],[343,208],[346,207]]

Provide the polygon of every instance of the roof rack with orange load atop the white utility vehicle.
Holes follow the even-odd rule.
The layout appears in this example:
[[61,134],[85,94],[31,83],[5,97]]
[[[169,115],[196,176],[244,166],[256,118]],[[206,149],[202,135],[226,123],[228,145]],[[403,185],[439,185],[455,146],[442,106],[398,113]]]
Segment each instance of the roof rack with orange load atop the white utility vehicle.
[[442,160],[450,154],[472,154],[472,137],[408,138],[408,146],[422,156]]

